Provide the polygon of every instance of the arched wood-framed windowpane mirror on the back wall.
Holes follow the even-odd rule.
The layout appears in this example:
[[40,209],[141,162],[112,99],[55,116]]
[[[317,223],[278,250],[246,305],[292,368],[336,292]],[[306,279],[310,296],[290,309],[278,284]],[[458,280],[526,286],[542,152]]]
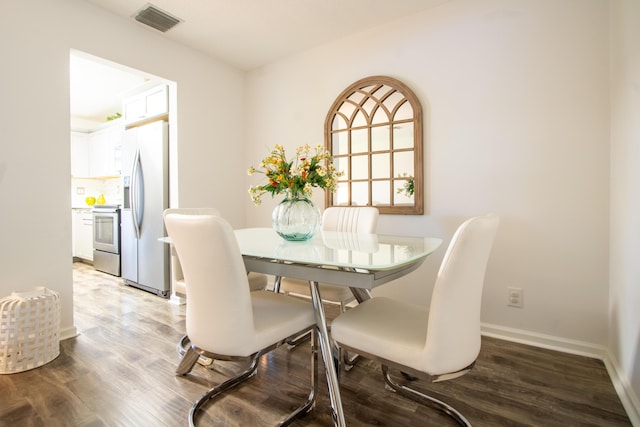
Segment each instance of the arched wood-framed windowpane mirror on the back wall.
[[422,107],[402,82],[374,76],[346,88],[327,114],[325,147],[344,172],[326,206],[424,213]]

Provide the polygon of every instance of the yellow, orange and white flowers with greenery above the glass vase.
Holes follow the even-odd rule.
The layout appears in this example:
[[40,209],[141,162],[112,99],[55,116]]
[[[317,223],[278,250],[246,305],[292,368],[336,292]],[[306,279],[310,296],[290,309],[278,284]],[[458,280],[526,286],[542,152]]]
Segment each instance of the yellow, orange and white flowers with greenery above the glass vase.
[[268,182],[249,187],[251,200],[255,205],[262,202],[265,193],[286,193],[289,198],[310,197],[313,187],[336,190],[336,180],[343,175],[333,165],[333,157],[321,145],[312,149],[302,145],[296,149],[293,160],[287,160],[284,148],[276,144],[271,154],[260,163],[260,170],[251,166],[247,173],[263,173]]

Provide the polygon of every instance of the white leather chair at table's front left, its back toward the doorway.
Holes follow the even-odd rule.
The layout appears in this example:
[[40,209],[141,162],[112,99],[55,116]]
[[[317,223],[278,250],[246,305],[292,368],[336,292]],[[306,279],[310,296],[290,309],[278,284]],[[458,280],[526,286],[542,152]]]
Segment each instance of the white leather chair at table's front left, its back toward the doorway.
[[189,425],[195,425],[196,413],[211,398],[252,377],[260,356],[291,336],[311,331],[311,391],[307,401],[284,422],[306,414],[313,407],[318,383],[312,305],[270,291],[250,292],[240,248],[223,218],[211,213],[167,211],[164,221],[187,283],[190,346],[176,374],[187,375],[200,356],[249,362],[246,370],[211,388],[193,404]]

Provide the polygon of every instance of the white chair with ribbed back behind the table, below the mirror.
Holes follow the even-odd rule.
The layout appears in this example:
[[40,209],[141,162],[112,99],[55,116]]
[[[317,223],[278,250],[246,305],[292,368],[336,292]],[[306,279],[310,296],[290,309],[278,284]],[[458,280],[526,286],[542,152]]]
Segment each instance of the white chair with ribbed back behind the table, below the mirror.
[[[378,228],[378,209],[374,207],[328,207],[322,214],[322,230],[349,231],[353,233],[375,233]],[[354,300],[347,286],[320,284],[323,301],[340,304],[343,312],[346,305]],[[280,290],[286,294],[310,297],[309,282],[283,277]]]

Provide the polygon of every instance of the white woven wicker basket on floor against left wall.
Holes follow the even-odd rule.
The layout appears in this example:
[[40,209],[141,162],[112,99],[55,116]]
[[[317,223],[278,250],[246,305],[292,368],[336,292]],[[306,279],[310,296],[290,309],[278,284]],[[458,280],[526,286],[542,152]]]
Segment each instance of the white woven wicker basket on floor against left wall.
[[0,374],[44,365],[60,354],[60,296],[47,288],[0,299]]

